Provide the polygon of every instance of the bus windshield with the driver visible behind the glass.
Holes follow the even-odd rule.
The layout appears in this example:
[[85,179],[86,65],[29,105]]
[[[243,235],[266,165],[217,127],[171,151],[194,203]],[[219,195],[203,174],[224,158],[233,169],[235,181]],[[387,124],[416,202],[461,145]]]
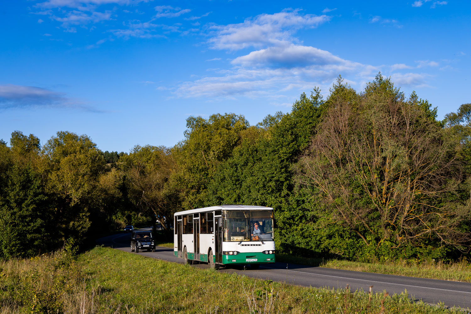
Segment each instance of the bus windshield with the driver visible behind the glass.
[[273,210],[223,210],[223,241],[274,241]]

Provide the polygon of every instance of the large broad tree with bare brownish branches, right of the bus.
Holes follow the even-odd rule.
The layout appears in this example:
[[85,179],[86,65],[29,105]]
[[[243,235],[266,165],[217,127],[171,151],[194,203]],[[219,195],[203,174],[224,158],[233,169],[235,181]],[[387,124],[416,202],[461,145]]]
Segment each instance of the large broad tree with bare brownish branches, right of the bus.
[[469,205],[454,197],[463,164],[436,109],[415,93],[405,99],[381,74],[361,95],[332,104],[296,168],[298,182],[322,195],[318,226],[356,234],[363,245],[349,254],[365,258],[430,245],[467,251]]

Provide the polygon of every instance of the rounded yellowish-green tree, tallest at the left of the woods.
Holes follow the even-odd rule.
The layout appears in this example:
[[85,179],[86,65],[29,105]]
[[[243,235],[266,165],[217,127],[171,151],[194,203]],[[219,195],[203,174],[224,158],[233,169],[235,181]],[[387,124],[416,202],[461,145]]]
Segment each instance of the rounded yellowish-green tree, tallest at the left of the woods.
[[42,149],[45,188],[55,205],[57,241],[81,240],[90,226],[92,196],[106,164],[97,145],[87,135],[60,131]]

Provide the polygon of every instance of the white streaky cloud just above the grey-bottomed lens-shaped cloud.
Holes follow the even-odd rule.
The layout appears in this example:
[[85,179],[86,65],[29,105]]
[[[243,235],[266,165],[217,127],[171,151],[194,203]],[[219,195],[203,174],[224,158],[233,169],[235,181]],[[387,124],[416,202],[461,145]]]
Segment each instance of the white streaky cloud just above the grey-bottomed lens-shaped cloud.
[[208,42],[211,48],[229,50],[286,44],[294,40],[292,34],[297,30],[317,27],[330,19],[326,15],[300,15],[298,10],[262,14],[244,23],[213,25],[213,37]]

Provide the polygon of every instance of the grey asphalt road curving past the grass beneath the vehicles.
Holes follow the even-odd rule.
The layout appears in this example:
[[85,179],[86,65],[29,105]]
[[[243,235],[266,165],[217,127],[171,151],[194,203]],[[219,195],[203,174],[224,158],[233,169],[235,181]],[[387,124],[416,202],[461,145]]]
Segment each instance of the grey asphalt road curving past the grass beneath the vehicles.
[[[164,247],[156,247],[155,252],[131,253],[130,233],[118,233],[100,238],[97,243],[130,252],[130,254],[183,263],[183,258],[176,258],[173,255],[173,249]],[[194,267],[208,268],[208,265],[196,264]],[[242,267],[237,267],[222,268],[219,271],[235,272],[254,278],[270,279],[306,287],[345,288],[349,285],[353,291],[357,289],[369,291],[369,287],[373,286],[374,291],[385,290],[390,295],[400,294],[407,290],[409,297],[413,300],[422,300],[430,304],[443,302],[448,307],[471,309],[471,283],[467,282],[364,273],[296,264],[287,265],[285,263],[261,265],[258,270],[251,270],[250,267],[244,270]]]

